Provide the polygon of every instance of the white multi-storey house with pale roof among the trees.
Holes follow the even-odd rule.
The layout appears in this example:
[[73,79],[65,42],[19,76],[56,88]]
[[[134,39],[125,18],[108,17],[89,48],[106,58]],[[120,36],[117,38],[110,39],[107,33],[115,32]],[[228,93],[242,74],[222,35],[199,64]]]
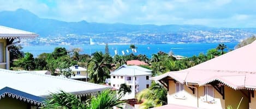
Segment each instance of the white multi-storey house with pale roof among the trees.
[[139,66],[123,65],[112,72],[110,83],[116,89],[120,88],[121,84],[128,85],[132,93],[124,95],[122,99],[135,99],[136,93],[145,88],[150,87],[152,70]]

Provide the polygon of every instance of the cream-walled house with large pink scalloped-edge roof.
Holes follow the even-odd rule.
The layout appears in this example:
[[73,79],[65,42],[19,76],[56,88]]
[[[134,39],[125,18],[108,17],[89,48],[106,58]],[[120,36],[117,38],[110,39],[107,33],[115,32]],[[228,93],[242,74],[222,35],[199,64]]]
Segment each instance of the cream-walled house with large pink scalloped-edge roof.
[[256,108],[256,41],[197,66],[154,76],[168,89],[157,108]]

